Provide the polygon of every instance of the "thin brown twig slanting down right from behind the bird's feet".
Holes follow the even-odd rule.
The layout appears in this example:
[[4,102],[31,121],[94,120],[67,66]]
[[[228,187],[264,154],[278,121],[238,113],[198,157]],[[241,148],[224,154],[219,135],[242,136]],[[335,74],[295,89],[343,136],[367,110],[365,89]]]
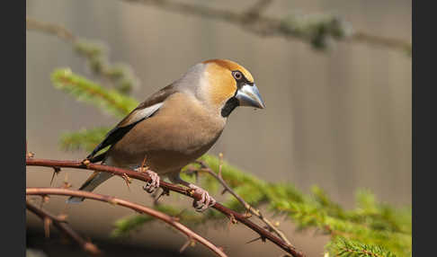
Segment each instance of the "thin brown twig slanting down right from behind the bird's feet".
[[268,229],[270,231],[273,231],[274,233],[276,233],[276,235],[280,236],[281,239],[285,243],[291,245],[290,240],[287,238],[287,236],[285,236],[281,232],[281,230],[279,230],[276,226],[274,226],[270,220],[268,220],[266,217],[264,217],[259,209],[252,207],[250,204],[248,204],[245,201],[245,199],[241,198],[235,191],[233,191],[229,187],[229,185],[227,185],[227,182],[225,182],[225,180],[223,180],[223,177],[221,176],[220,172],[218,174],[214,173],[214,171],[207,164],[205,164],[203,161],[196,161],[196,163],[201,164],[201,170],[189,169],[187,172],[197,171],[197,172],[206,172],[206,173],[209,173],[216,180],[218,180],[218,182],[220,182],[221,185],[225,188],[225,191],[228,191],[230,194],[232,194],[245,207],[245,209],[247,211],[249,211],[250,213],[254,214],[254,216],[260,218],[263,221],[263,223],[268,227]]

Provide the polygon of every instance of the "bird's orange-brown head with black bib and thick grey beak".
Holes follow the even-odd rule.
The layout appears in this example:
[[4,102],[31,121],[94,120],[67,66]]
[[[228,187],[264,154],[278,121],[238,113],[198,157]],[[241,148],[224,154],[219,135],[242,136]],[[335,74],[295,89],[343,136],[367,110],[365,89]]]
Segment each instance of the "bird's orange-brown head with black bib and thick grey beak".
[[237,106],[265,107],[254,77],[244,66],[227,59],[210,59],[194,67],[193,71],[200,73],[198,95],[222,117]]

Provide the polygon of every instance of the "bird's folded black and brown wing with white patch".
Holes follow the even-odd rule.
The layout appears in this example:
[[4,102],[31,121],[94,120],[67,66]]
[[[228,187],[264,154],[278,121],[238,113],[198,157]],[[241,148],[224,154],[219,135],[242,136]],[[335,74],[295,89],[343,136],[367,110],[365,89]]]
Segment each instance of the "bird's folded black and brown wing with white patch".
[[138,122],[153,116],[163,105],[165,99],[175,92],[176,90],[174,84],[169,84],[165,86],[165,88],[152,94],[145,102],[141,102],[137,108],[135,108],[133,111],[130,111],[130,113],[123,120],[121,120],[119,124],[115,126],[115,128],[112,128],[111,131],[106,134],[106,137],[104,137],[103,141],[96,146],[93,152],[86,158],[90,159],[93,163],[103,160],[106,152],[95,157],[94,155],[104,147],[117,143],[122,137],[124,137],[124,135],[126,135],[126,133],[129,132],[131,128],[137,125]]

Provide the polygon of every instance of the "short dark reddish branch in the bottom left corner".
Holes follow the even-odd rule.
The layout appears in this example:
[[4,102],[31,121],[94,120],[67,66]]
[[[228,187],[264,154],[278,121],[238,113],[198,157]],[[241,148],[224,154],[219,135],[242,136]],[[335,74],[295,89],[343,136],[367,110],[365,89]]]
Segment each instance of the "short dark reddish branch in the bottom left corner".
[[[76,233],[70,226],[67,225],[66,221],[59,218],[54,217],[53,215],[49,214],[49,212],[43,210],[42,208],[38,208],[35,205],[33,205],[29,200],[26,199],[26,208],[30,210],[32,213],[40,217],[46,224],[46,222],[49,221],[50,223],[53,223],[58,230],[60,230],[65,235],[68,235],[71,239],[76,241],[77,244],[82,246],[85,252],[91,253],[93,255],[100,255],[102,252],[95,246],[95,244],[92,244],[91,242],[86,241],[84,238],[82,238],[80,235]],[[49,228],[45,227],[46,235],[49,235]]]

